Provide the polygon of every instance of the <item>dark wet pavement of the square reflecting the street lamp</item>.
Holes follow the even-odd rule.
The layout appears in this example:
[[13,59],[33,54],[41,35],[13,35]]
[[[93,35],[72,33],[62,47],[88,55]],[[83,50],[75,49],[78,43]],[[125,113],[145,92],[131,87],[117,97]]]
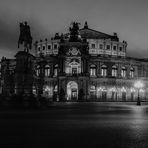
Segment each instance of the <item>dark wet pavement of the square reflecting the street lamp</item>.
[[0,147],[148,148],[148,103],[55,103],[1,110]]

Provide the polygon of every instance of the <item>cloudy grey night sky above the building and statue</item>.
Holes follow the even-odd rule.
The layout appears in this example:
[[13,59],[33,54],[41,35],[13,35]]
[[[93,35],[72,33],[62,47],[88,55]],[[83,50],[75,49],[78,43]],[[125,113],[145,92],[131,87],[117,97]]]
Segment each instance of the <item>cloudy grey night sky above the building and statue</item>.
[[34,41],[67,32],[72,21],[128,42],[130,56],[148,58],[147,0],[0,0],[0,57],[13,57],[19,22],[28,21]]

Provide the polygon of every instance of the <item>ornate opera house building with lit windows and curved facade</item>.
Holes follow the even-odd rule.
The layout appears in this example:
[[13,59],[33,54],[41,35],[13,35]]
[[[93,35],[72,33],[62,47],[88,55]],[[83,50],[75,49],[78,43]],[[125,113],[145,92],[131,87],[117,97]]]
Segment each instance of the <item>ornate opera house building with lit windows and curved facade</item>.
[[[148,100],[148,60],[127,56],[127,42],[117,33],[79,29],[35,42],[32,93],[53,101]],[[1,60],[1,92],[16,92],[16,59]],[[10,80],[11,81],[10,81]],[[9,81],[8,81],[9,80]],[[140,80],[144,87],[137,90]]]

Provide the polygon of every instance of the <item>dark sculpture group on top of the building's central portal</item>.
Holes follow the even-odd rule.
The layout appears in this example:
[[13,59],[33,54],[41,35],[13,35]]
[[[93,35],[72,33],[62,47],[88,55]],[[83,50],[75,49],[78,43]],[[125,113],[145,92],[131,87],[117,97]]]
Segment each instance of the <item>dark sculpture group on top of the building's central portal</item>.
[[78,22],[73,22],[72,27],[69,27],[70,31],[70,41],[71,42],[77,42],[80,40],[80,34],[79,34],[79,25]]

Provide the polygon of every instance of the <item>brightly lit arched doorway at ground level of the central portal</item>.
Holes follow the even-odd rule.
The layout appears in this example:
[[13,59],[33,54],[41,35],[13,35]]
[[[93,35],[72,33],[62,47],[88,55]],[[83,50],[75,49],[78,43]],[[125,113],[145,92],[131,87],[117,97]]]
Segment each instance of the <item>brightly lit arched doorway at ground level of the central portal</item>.
[[67,84],[67,100],[76,101],[78,99],[78,84],[75,81],[70,81]]

